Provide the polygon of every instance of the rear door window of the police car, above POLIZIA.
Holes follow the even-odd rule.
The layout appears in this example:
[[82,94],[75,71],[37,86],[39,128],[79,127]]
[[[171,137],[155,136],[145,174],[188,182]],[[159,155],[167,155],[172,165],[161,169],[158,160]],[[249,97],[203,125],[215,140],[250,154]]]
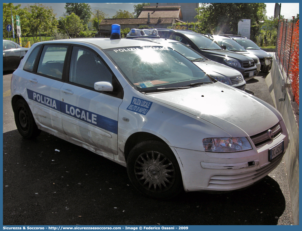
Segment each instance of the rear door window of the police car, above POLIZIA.
[[64,60],[68,46],[45,45],[39,60],[37,73],[62,79]]

